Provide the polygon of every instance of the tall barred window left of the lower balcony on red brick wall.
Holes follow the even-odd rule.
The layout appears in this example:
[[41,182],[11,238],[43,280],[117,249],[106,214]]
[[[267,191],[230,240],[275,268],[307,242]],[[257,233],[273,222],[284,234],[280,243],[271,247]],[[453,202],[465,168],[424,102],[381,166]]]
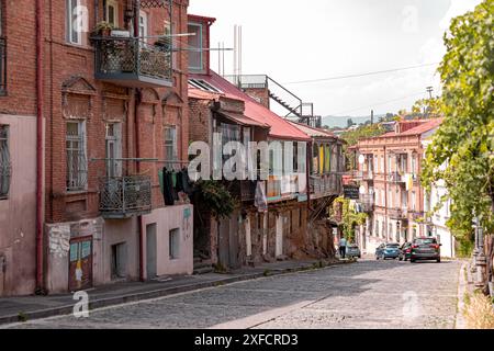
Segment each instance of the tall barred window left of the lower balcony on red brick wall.
[[88,163],[86,159],[85,131],[85,122],[67,123],[67,191],[86,190]]

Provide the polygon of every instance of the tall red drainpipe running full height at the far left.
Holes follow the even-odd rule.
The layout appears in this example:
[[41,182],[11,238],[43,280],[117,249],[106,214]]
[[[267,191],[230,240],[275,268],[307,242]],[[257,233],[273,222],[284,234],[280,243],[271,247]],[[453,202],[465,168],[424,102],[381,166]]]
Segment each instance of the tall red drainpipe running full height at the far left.
[[43,0],[36,0],[36,294],[44,293],[43,281]]

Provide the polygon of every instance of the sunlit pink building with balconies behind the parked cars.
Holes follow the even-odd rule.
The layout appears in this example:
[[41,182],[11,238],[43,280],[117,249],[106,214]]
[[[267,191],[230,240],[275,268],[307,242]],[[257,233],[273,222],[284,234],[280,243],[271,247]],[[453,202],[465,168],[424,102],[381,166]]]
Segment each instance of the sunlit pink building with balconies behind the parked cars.
[[361,139],[352,149],[358,160],[353,179],[363,185],[358,208],[369,214],[359,234],[362,250],[373,253],[382,242],[405,242],[433,235],[420,184],[426,140],[441,120],[396,122],[395,131]]

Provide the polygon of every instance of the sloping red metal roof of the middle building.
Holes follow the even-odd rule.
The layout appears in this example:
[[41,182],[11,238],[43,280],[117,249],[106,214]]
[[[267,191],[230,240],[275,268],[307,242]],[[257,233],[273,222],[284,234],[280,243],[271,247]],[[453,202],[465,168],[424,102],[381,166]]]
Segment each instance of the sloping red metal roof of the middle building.
[[305,133],[291,125],[271,110],[258,103],[256,100],[247,95],[245,92],[214,71],[211,71],[211,76],[190,75],[190,78],[206,81],[209,84],[221,90],[227,98],[243,100],[245,102],[244,114],[254,121],[269,125],[271,127],[269,133],[271,138],[301,141],[311,140]]

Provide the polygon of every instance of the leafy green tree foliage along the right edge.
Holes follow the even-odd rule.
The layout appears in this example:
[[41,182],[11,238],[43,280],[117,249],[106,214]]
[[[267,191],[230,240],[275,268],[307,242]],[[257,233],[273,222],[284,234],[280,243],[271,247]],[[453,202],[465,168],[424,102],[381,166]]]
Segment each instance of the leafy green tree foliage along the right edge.
[[448,227],[471,240],[472,219],[494,233],[494,0],[452,20],[439,67],[445,121],[433,138],[423,184],[444,180],[452,200]]

